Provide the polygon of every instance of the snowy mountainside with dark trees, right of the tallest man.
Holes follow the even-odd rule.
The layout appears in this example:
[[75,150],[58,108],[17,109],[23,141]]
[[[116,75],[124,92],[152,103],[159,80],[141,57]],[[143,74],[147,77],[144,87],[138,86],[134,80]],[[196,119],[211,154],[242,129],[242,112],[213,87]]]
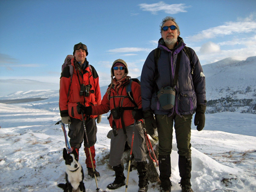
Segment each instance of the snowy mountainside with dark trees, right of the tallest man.
[[256,114],[256,56],[245,61],[224,59],[203,65],[207,112]]

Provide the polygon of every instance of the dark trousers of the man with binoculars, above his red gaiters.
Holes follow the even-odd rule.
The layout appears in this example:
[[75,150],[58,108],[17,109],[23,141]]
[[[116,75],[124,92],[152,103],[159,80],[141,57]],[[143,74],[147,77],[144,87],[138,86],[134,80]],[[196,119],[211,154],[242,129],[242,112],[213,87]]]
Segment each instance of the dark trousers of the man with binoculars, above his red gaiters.
[[80,119],[71,118],[71,124],[68,130],[68,137],[70,138],[69,143],[71,147],[80,149],[83,141],[84,141],[85,147],[94,146],[94,144],[97,141],[97,138],[96,138],[97,126],[95,123],[95,119],[90,119],[90,118],[86,119],[85,126],[86,126],[86,135],[88,137],[89,146],[86,142],[83,121]]

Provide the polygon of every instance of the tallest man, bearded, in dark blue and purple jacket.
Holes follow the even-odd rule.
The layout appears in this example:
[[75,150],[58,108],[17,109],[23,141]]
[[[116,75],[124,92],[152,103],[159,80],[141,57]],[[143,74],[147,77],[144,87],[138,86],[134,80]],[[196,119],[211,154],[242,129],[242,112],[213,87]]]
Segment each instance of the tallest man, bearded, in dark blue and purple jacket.
[[160,55],[155,56],[157,54],[153,50],[148,55],[141,74],[144,120],[150,135],[154,135],[154,129],[158,128],[161,192],[171,191],[173,123],[182,192],[193,192],[190,183],[191,121],[196,113],[194,124],[197,125],[197,130],[201,131],[205,126],[205,75],[195,51],[186,47],[190,56],[186,54],[187,49],[183,39],[179,37],[179,26],[175,19],[164,18],[160,27]]

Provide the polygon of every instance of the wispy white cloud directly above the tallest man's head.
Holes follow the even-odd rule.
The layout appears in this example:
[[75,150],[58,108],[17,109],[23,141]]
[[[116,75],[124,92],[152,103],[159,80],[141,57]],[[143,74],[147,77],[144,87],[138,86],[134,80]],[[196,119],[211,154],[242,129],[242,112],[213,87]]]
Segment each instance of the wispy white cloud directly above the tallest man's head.
[[147,4],[142,3],[139,4],[139,7],[143,11],[150,11],[152,14],[157,14],[158,11],[164,11],[167,14],[177,14],[181,12],[187,12],[185,10],[186,8],[189,8],[188,6],[185,6],[185,4],[166,4],[165,2],[160,1],[159,3],[153,3],[153,4]]

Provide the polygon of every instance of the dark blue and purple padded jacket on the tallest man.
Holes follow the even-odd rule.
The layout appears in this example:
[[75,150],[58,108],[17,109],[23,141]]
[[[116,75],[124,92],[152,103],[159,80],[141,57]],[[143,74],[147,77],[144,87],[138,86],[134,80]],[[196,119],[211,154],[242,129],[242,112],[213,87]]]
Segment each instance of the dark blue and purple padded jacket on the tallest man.
[[162,87],[173,87],[174,72],[177,62],[177,55],[182,51],[181,62],[179,64],[179,76],[176,86],[176,99],[172,109],[165,110],[161,108],[155,87],[155,61],[154,50],[148,55],[141,73],[141,96],[142,109],[153,110],[154,114],[172,115],[174,110],[179,115],[194,114],[198,104],[206,105],[205,75],[200,61],[191,48],[191,60],[194,63],[194,73],[191,74],[191,65],[188,56],[183,50],[185,43],[181,37],[178,37],[178,44],[170,50],[166,47],[164,39],[160,38],[158,48],[161,49],[161,55],[158,60],[158,79],[156,85],[158,90]]

